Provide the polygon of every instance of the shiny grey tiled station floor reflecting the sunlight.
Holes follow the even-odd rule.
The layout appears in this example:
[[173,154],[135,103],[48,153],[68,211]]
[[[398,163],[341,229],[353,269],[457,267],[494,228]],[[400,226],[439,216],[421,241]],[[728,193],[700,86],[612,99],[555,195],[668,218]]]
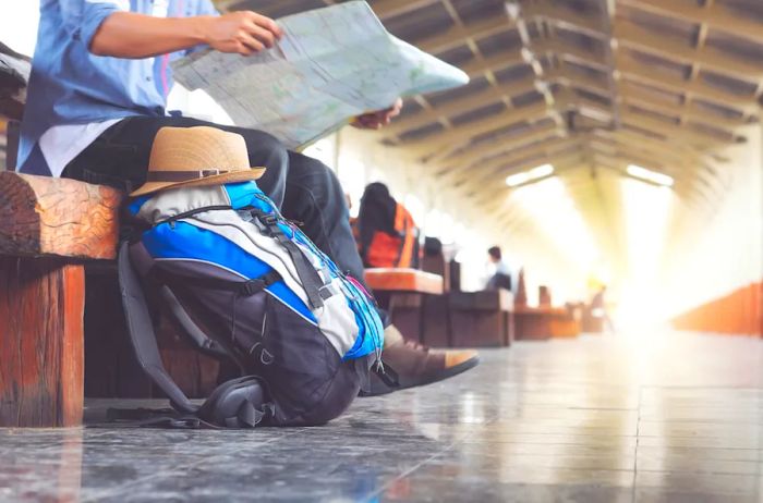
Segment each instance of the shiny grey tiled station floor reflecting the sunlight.
[[763,341],[520,343],[323,428],[0,430],[0,501],[763,501]]

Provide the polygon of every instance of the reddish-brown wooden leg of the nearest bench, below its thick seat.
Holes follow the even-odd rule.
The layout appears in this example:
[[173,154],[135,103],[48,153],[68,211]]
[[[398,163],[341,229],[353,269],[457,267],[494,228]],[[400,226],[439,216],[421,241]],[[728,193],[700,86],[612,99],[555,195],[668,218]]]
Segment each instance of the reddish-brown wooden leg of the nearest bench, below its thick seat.
[[0,257],[0,427],[82,424],[85,272]]

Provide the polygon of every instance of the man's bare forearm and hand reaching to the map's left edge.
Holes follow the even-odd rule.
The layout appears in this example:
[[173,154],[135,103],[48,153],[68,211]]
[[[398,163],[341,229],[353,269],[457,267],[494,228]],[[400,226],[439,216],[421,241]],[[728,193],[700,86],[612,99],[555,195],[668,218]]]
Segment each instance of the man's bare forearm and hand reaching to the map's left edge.
[[98,27],[89,50],[97,56],[141,59],[206,44],[220,52],[249,56],[274,47],[282,35],[275,21],[251,11],[193,17],[114,12]]

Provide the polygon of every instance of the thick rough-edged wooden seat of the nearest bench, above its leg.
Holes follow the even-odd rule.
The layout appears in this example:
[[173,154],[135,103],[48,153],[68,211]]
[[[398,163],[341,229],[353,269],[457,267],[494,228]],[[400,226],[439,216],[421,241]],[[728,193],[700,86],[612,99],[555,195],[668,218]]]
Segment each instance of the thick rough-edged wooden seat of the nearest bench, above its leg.
[[0,172],[0,255],[113,259],[120,191]]

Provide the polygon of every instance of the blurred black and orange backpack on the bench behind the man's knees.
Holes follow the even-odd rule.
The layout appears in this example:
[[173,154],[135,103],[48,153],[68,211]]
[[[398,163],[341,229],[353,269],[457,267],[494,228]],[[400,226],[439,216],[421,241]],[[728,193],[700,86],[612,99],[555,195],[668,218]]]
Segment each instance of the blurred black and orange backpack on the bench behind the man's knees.
[[419,267],[419,229],[387,185],[375,182],[365,187],[356,230],[365,267]]

